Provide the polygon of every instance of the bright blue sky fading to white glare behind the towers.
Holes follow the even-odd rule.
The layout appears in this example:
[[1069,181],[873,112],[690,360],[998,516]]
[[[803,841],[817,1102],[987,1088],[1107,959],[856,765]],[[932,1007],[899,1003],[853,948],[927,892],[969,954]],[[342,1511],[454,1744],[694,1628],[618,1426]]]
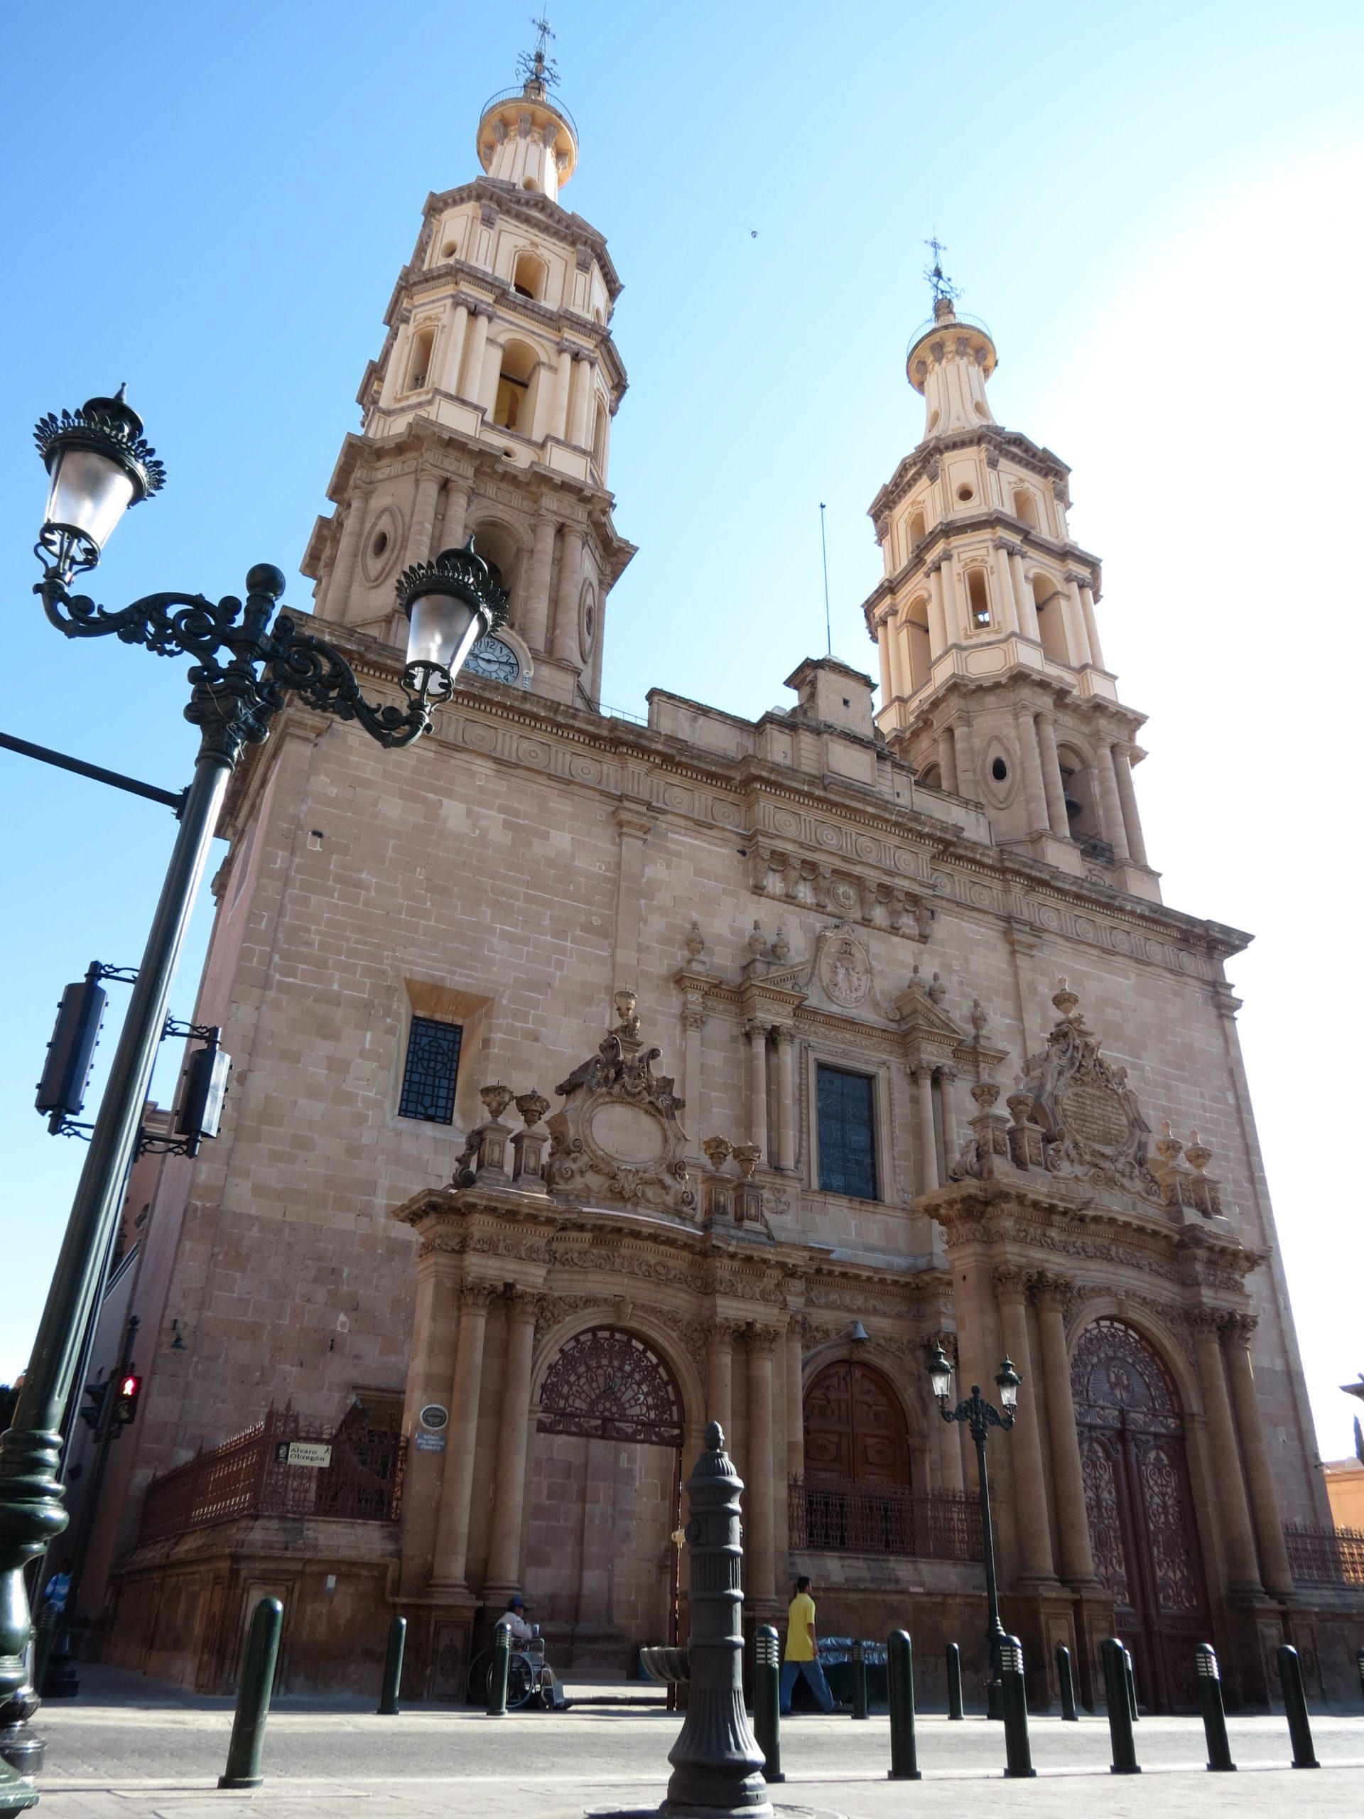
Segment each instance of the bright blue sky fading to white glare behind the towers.
[[[1359,1019],[1340,960],[1364,653],[1355,538],[1335,578],[1313,538],[1337,506],[1357,518],[1364,9],[551,11],[582,131],[564,202],[626,282],[611,478],[640,555],[609,604],[606,700],[642,711],[655,682],[740,713],[780,700],[822,646],[820,500],[835,649],[871,668],[866,506],[920,435],[904,346],[937,227],[998,340],[997,415],[1075,467],[1109,660],[1151,713],[1138,793],[1168,900],[1260,935],[1233,971],[1242,1037],[1322,1450],[1348,1452],[1335,1384],[1364,1368],[1362,1259],[1324,1151]],[[256,560],[307,604],[296,562],[422,198],[475,173],[478,107],[511,80],[527,13],[11,9],[7,731],[187,779],[184,664],[67,646],[31,600],[31,424],[125,378],[167,460],[100,569],[109,604],[235,591]],[[1295,631],[1331,644],[1289,697]],[[29,1308],[0,1332],[2,1377],[80,1161],[31,1110],[55,1000],[91,959],[136,960],[171,819],[7,753],[0,802],[4,1253]],[[200,917],[196,953],[204,933]],[[191,955],[182,1015],[195,973]]]

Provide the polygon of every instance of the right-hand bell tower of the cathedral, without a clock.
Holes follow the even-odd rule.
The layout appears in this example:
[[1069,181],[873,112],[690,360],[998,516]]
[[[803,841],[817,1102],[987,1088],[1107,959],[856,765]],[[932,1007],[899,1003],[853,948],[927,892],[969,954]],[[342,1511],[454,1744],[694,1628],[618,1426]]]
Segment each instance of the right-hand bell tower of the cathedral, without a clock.
[[880,731],[920,784],[980,802],[1002,846],[1158,900],[1131,782],[1144,717],[1104,668],[1100,566],[1066,524],[1069,467],[997,424],[995,340],[957,309],[929,246],[933,317],[906,360],[924,435],[871,504]]

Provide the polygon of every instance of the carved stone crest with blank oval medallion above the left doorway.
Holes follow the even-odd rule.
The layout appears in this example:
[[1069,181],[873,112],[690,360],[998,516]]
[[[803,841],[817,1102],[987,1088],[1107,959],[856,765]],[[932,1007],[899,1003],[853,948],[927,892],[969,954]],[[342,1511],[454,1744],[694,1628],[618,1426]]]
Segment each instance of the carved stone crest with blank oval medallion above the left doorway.
[[555,1091],[564,1106],[549,1119],[546,1179],[557,1199],[591,1206],[649,1206],[695,1217],[687,1181],[686,1100],[667,1075],[651,1068],[662,1050],[638,1037],[635,993],[615,997],[620,1022],[591,1060],[575,1068]]

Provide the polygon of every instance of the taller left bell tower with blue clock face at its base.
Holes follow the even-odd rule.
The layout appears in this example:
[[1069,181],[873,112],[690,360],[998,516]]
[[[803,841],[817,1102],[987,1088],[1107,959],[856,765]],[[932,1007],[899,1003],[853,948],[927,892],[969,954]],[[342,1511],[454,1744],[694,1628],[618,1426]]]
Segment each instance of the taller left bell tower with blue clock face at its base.
[[635,553],[607,489],[620,278],[560,202],[578,129],[537,29],[478,118],[482,175],[426,198],[302,568],[322,618],[398,644],[396,577],[473,535],[509,617],[462,673],[595,708],[606,597]]

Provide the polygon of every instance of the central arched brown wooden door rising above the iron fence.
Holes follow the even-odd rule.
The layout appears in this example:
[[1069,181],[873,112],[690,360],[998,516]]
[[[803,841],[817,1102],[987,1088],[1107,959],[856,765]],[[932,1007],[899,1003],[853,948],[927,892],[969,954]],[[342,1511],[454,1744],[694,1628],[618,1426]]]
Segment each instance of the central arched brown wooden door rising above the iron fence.
[[833,1553],[909,1552],[909,1437],[880,1372],[826,1364],[806,1390],[806,1544]]

